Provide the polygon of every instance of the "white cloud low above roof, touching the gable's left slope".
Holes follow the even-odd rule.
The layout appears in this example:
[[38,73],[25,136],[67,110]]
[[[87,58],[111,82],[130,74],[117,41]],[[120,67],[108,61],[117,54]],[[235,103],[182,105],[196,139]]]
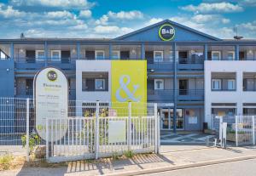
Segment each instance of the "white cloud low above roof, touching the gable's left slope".
[[128,27],[119,27],[119,26],[96,26],[95,32],[99,34],[125,34],[133,31]]

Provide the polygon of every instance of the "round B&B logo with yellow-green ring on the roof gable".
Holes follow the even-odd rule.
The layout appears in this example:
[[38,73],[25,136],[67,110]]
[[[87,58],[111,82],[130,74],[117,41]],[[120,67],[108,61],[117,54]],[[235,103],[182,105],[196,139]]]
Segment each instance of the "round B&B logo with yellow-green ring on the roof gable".
[[172,25],[165,24],[163,26],[160,26],[159,29],[159,37],[163,41],[170,41],[175,36],[175,30]]

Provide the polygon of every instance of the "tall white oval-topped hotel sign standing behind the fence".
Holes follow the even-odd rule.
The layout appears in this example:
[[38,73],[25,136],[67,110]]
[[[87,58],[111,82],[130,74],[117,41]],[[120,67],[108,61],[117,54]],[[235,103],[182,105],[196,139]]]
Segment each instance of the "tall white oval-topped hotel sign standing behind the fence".
[[36,130],[49,143],[46,156],[51,156],[53,143],[67,131],[67,90],[67,77],[55,67],[38,71],[34,78]]

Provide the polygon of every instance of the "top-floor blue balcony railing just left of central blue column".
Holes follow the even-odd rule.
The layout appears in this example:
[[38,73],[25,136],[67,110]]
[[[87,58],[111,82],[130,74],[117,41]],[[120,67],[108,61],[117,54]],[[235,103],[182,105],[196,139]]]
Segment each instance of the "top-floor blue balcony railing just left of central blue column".
[[172,59],[148,59],[148,69],[154,71],[173,71]]

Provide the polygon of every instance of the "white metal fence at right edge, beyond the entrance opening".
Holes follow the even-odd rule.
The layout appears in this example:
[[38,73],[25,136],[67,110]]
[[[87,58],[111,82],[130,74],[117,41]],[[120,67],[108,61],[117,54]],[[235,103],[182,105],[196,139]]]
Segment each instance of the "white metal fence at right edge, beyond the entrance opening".
[[218,133],[219,122],[227,122],[227,141],[234,142],[236,146],[255,145],[255,118],[256,116],[212,115],[212,129],[214,129]]

